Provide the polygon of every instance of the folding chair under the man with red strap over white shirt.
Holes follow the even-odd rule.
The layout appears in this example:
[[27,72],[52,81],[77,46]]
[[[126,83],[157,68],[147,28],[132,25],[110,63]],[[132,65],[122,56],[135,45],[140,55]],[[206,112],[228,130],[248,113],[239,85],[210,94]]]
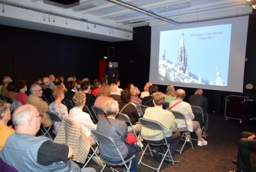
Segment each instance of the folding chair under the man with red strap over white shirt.
[[[172,114],[174,114],[174,117],[176,118],[176,120],[183,120],[183,122],[185,122],[185,126],[186,126],[185,130],[183,130],[183,131],[179,130],[179,131],[183,132],[182,136],[181,136],[181,140],[183,140],[184,143],[183,143],[181,149],[176,149],[176,151],[178,151],[179,153],[182,153],[183,148],[185,147],[185,144],[187,142],[188,143],[190,142],[192,149],[194,149],[194,146],[193,146],[193,143],[192,143],[192,139],[191,139],[191,136],[190,136],[190,131],[188,130],[188,125],[187,125],[185,116],[183,114],[181,114],[179,111],[172,111]],[[185,137],[185,132],[188,133],[188,139],[189,140]]]

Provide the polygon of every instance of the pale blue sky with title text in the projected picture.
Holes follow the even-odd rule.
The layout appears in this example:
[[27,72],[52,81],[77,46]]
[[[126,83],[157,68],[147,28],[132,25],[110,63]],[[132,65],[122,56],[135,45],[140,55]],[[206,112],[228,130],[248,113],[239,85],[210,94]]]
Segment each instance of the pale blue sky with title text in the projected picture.
[[228,84],[231,24],[201,28],[162,31],[159,59],[165,57],[174,63],[181,46],[182,34],[188,57],[188,69],[203,79],[216,82],[216,67],[225,85]]

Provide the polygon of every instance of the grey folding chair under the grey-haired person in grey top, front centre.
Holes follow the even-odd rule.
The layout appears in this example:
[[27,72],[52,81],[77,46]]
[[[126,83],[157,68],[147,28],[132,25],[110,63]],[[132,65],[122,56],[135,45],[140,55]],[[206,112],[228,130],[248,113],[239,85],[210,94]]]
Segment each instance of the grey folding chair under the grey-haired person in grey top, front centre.
[[[104,164],[101,172],[104,171],[106,166],[109,166],[111,168],[111,171],[117,171],[116,169],[113,169],[112,166],[122,166],[122,165],[124,165],[125,168],[127,169],[127,172],[129,172],[131,168],[131,160],[135,158],[135,155],[132,155],[131,158],[129,158],[128,160],[124,160],[124,158],[122,158],[122,154],[120,153],[119,149],[116,147],[115,140],[113,140],[111,136],[105,136],[104,134],[95,130],[91,131],[91,133],[93,134],[93,137],[95,138],[96,143],[98,145],[101,143],[106,145],[107,147],[115,147],[116,151],[118,152],[118,155],[120,155],[120,160],[122,160],[119,163],[113,163],[113,162],[109,162],[108,160],[104,160],[103,158],[100,158]],[[129,166],[127,166],[127,163],[129,163]]]

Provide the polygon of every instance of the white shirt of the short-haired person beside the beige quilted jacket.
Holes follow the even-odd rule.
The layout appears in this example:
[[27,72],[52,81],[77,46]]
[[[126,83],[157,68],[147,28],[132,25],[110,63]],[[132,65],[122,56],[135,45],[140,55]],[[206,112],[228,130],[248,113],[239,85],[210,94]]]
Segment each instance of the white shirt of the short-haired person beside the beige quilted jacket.
[[93,124],[90,115],[77,107],[73,107],[69,111],[69,118],[76,120],[82,125],[87,137],[91,135],[91,130],[95,130],[97,128],[97,125]]

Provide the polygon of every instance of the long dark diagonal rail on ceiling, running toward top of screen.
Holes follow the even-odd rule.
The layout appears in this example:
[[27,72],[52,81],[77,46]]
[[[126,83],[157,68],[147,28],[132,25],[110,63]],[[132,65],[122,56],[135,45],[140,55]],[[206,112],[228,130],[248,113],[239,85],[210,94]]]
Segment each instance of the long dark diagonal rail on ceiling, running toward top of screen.
[[143,8],[138,8],[136,6],[133,6],[133,5],[129,4],[129,3],[125,3],[125,2],[120,1],[120,0],[106,0],[106,1],[109,1],[109,2],[112,2],[112,3],[116,3],[116,4],[120,5],[120,6],[123,6],[125,8],[129,8],[131,10],[135,10],[136,12],[143,13],[145,15],[148,15],[150,17],[154,17],[154,18],[159,19],[161,21],[166,21],[166,22],[172,23],[174,25],[180,25],[179,22],[176,22],[176,21],[174,21],[172,19],[168,19],[166,17],[162,17],[161,15],[158,15],[158,14],[156,14],[154,12],[150,12],[149,10],[144,10]]

